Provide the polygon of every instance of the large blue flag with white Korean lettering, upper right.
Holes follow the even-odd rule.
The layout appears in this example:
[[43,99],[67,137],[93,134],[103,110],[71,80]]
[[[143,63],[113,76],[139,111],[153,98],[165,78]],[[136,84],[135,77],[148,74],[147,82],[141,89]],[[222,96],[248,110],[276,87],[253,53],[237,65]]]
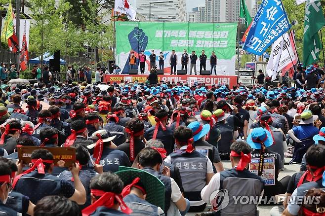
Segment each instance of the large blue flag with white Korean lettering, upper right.
[[289,21],[281,0],[263,0],[251,24],[243,49],[260,56],[288,30]]

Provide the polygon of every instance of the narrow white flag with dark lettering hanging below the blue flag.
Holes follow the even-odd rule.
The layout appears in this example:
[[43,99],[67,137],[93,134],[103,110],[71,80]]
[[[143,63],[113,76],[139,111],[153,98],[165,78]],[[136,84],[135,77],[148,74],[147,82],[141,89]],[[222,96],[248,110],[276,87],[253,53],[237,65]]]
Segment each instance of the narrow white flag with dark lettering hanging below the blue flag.
[[266,72],[267,74],[271,77],[272,76],[272,81],[277,78],[277,72],[278,72],[278,67],[279,67],[279,62],[283,50],[283,38],[279,37],[273,44],[272,44],[272,51],[270,54],[270,59],[269,62],[267,63],[266,66]]

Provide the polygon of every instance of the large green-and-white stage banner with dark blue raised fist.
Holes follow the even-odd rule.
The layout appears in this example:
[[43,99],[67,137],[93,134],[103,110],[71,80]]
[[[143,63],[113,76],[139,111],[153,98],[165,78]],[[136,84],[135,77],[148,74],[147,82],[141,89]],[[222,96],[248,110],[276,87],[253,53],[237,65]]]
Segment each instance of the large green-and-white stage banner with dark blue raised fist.
[[[217,74],[235,75],[237,23],[192,23],[192,22],[116,22],[116,64],[122,73],[129,70],[131,50],[135,56],[144,51],[146,55],[145,73],[149,73],[149,56],[155,50],[156,65],[159,68],[159,55],[164,57],[164,73],[170,73],[171,51],[177,55],[176,69],[181,69],[181,57],[186,49],[188,57],[196,52],[196,69],[200,71],[199,57],[202,50],[207,56],[206,70],[210,70],[211,52],[217,56]],[[140,68],[137,63],[138,71]],[[190,71],[190,61],[188,64]],[[194,73],[194,70],[193,70]]]

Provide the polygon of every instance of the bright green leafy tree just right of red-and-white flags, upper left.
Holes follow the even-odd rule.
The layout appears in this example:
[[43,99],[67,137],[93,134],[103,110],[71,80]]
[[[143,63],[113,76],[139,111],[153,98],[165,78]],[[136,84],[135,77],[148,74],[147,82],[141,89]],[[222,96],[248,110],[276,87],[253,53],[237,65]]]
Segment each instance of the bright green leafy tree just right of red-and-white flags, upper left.
[[29,0],[32,18],[30,30],[30,50],[40,56],[41,64],[43,53],[54,51],[63,47],[63,14],[70,9],[70,4],[60,1],[55,5],[55,0]]

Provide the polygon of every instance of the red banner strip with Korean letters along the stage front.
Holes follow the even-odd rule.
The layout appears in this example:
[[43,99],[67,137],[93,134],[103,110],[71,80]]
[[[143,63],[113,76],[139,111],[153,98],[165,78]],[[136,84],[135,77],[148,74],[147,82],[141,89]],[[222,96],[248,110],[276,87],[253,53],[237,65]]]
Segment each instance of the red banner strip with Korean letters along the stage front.
[[[121,80],[128,82],[145,82],[149,74],[144,75],[129,75],[129,74],[105,74],[104,82],[117,82],[121,83]],[[192,86],[195,82],[205,83],[207,86],[213,84],[229,84],[230,88],[234,85],[237,85],[237,75],[235,76],[226,76],[226,75],[158,75],[159,81],[164,82],[182,82],[189,83]]]

